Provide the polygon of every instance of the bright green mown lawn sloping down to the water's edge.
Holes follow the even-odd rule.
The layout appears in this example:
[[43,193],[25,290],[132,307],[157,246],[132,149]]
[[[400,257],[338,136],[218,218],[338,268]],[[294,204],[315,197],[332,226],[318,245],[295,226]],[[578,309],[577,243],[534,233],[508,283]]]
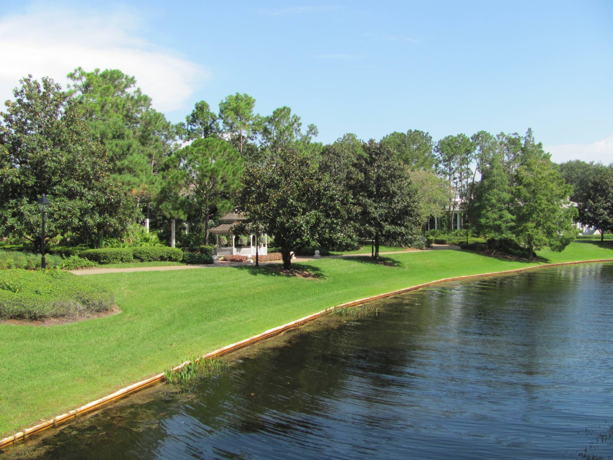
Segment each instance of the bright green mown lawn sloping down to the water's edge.
[[[613,245],[574,242],[550,263],[613,259]],[[122,313],[62,326],[0,324],[0,435],[31,426],[191,355],[326,307],[439,278],[528,267],[471,251],[421,251],[388,257],[319,259],[299,264],[319,280],[274,267],[89,275],[112,289]]]

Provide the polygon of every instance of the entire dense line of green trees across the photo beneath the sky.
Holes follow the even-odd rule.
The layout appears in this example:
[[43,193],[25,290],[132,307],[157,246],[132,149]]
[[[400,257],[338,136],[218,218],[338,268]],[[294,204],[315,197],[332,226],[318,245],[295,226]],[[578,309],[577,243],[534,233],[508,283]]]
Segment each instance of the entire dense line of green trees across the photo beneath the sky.
[[[122,242],[146,219],[168,238],[168,221],[190,229],[186,246],[207,244],[216,218],[246,214],[243,231],[266,231],[289,267],[297,247],[379,243],[419,246],[436,217],[528,255],[573,239],[584,223],[612,228],[611,167],[550,161],[533,133],[479,131],[434,142],[428,132],[392,132],[379,142],[345,134],[314,142],[289,107],[254,113],[231,94],[215,112],[197,102],[184,123],[151,107],[134,77],[118,70],[68,75],[67,91],[27,77],[0,112],[2,236],[39,243],[36,199],[53,202],[50,241],[89,247]],[[133,230],[131,230],[133,231]]]

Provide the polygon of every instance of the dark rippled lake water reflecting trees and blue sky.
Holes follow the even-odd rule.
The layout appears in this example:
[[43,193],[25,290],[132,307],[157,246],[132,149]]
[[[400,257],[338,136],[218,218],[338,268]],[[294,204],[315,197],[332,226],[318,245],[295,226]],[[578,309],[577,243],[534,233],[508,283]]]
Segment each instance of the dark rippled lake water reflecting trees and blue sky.
[[372,306],[237,353],[189,391],[158,385],[4,454],[613,456],[613,264],[447,283]]

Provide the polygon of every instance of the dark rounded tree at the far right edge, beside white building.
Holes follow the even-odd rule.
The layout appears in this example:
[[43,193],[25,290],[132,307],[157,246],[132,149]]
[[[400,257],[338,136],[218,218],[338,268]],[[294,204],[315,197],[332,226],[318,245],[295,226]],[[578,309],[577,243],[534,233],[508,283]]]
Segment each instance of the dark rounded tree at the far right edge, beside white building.
[[613,231],[613,169],[596,174],[579,205],[579,218],[583,224],[594,226],[604,238],[604,232]]

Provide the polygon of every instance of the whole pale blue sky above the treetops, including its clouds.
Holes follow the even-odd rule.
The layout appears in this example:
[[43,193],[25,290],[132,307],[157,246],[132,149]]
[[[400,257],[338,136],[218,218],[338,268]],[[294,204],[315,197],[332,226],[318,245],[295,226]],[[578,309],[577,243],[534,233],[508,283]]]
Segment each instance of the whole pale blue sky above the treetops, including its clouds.
[[554,160],[613,161],[610,1],[2,4],[1,99],[28,72],[116,67],[171,121],[238,91],[322,142],[531,127]]

